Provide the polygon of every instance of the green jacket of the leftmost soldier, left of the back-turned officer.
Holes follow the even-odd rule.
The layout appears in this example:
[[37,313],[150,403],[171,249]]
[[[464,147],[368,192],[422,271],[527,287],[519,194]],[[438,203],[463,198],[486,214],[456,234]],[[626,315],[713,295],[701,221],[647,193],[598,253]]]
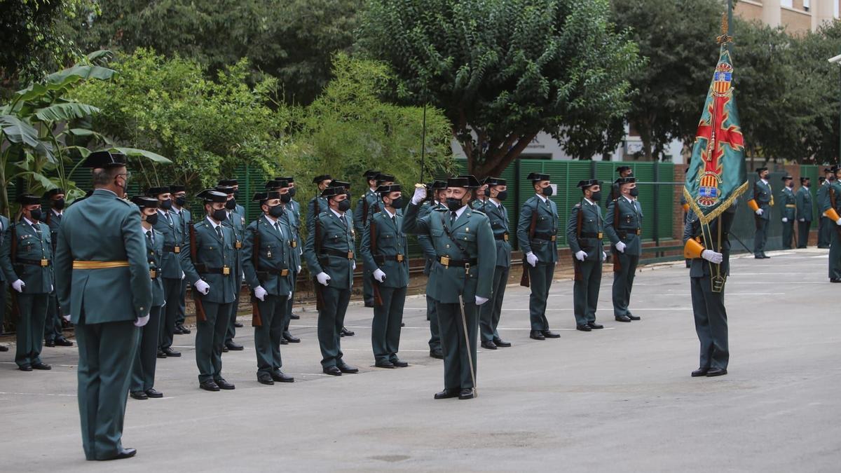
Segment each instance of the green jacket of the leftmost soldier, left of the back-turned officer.
[[[53,268],[40,266],[41,259],[53,259],[53,245],[50,237],[50,227],[45,223],[29,225],[21,218],[6,229],[3,238],[3,250],[0,251],[0,266],[6,280],[14,282],[18,279],[26,283],[24,294],[49,294],[52,292]],[[37,228],[37,231],[36,231]],[[12,240],[17,238],[18,247],[12,254]],[[16,263],[12,264],[12,258]],[[26,260],[26,261],[24,261]]]

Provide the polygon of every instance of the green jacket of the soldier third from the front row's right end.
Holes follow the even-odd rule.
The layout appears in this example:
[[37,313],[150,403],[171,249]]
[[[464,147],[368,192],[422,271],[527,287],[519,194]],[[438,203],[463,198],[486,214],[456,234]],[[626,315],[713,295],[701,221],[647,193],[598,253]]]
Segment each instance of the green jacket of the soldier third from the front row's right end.
[[[530,239],[529,228],[532,226],[532,215],[537,213],[537,223],[534,227],[535,238]],[[517,241],[525,255],[533,252],[541,263],[558,262],[558,242],[551,237],[558,235],[558,207],[552,199],[546,202],[532,195],[526,200],[520,210],[520,221],[517,223]]]

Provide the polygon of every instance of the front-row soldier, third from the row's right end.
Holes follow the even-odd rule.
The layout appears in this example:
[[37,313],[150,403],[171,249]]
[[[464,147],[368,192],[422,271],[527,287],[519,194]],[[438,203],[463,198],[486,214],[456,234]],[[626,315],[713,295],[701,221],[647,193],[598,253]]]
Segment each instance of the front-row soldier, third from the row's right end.
[[529,318],[532,332],[529,337],[535,340],[558,338],[558,333],[549,330],[546,317],[546,301],[549,288],[558,263],[558,207],[549,199],[553,189],[549,185],[549,175],[531,173],[527,177],[532,181],[535,194],[526,200],[520,210],[517,223],[517,241],[526,258],[524,271],[528,271],[532,294],[529,296]]

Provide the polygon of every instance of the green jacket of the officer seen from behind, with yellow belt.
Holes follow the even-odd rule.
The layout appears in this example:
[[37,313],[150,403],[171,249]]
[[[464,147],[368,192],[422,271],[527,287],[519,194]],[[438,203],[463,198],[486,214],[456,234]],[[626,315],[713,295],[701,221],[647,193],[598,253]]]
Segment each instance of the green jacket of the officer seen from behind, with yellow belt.
[[[148,316],[149,260],[137,205],[105,189],[71,205],[56,245],[58,304],[78,324],[123,322]],[[127,268],[73,269],[73,261],[128,261]]]

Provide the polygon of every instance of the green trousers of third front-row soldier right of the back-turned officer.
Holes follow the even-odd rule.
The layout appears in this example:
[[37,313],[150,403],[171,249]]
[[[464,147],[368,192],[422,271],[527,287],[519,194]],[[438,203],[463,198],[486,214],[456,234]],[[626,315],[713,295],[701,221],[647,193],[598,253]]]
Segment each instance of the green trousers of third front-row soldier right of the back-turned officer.
[[254,327],[254,349],[257,351],[257,375],[272,374],[283,366],[280,359],[280,340],[283,338],[283,323],[287,319],[288,296],[266,295],[258,300],[260,327]]

